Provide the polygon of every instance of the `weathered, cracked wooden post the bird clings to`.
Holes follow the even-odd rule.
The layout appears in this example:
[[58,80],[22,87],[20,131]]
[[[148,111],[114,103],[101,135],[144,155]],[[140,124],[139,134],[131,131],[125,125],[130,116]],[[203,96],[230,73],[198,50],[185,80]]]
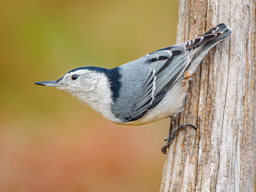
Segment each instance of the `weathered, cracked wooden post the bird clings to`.
[[198,67],[169,147],[161,192],[252,192],[256,163],[255,0],[179,0],[177,43],[218,23],[233,30]]

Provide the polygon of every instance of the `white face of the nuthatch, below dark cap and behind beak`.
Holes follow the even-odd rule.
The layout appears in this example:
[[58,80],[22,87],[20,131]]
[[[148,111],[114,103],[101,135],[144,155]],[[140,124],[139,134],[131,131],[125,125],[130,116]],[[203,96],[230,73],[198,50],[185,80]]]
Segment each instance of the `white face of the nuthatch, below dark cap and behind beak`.
[[109,81],[101,72],[79,69],[66,73],[59,83],[61,86],[56,87],[57,89],[71,94],[83,105],[88,105],[100,114],[101,109],[112,101]]

